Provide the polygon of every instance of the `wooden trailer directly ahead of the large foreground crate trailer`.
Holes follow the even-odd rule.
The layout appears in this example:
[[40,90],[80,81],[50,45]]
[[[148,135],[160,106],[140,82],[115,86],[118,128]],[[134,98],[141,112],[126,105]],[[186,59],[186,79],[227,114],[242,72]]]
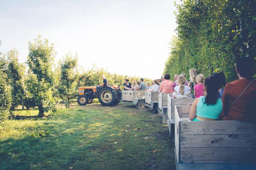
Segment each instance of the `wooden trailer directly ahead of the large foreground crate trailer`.
[[174,98],[171,97],[171,95],[167,95],[167,116],[168,116],[168,119],[166,121],[167,121],[170,133],[171,133],[171,127],[174,130],[174,125],[171,125],[171,124],[174,124],[174,112],[175,112],[174,106],[175,105],[184,105],[183,109],[188,108],[186,111],[189,114],[191,106],[187,106],[187,105],[188,105],[188,103],[193,103],[194,100],[195,100],[195,98],[174,99]]

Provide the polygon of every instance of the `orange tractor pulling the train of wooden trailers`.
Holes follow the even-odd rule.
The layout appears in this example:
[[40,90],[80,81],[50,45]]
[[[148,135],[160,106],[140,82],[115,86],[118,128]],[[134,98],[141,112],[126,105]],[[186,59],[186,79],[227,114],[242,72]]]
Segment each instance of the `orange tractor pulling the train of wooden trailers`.
[[117,105],[122,100],[122,90],[117,85],[98,86],[98,88],[97,86],[78,87],[79,105],[91,104],[95,98],[98,98],[104,106]]

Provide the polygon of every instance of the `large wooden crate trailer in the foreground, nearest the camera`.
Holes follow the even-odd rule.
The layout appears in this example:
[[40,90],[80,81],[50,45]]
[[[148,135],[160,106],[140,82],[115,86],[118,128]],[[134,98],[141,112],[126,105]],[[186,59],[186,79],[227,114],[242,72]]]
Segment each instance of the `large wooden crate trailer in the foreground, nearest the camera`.
[[187,106],[175,105],[176,169],[256,169],[256,123],[190,121],[188,116]]

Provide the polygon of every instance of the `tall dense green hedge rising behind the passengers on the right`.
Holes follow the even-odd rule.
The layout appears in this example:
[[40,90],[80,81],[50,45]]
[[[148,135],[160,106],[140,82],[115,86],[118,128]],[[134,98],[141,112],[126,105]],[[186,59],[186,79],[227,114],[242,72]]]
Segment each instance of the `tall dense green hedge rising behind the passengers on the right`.
[[227,81],[237,79],[240,57],[256,57],[255,0],[182,0],[175,4],[177,36],[165,73],[188,74],[195,68],[210,75],[223,71]]

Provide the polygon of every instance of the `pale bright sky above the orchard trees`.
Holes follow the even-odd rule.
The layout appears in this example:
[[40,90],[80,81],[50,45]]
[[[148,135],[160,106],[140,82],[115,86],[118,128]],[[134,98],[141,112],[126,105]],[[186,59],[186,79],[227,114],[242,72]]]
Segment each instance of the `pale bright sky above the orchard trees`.
[[[176,2],[179,2],[176,0]],[[0,52],[19,51],[37,35],[54,43],[56,61],[78,54],[78,65],[157,79],[175,35],[173,0],[0,0]]]

